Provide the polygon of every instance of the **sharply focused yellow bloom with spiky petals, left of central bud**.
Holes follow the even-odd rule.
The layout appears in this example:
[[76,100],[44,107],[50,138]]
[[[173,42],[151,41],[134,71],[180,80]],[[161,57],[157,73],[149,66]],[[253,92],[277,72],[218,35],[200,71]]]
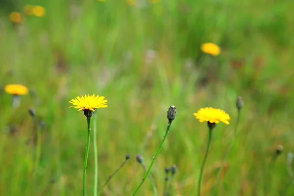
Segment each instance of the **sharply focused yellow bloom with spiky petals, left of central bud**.
[[73,104],[73,106],[70,106],[70,107],[74,107],[75,109],[78,109],[78,111],[85,110],[85,109],[95,111],[95,109],[97,108],[107,107],[106,105],[107,100],[104,99],[104,96],[99,97],[99,96],[95,96],[95,94],[91,96],[85,95],[85,97],[78,96],[69,102]]

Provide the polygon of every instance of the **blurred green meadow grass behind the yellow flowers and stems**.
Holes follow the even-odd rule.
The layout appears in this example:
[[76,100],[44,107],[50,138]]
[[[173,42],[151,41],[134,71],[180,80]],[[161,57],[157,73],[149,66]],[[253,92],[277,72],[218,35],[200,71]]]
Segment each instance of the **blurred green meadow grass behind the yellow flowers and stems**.
[[[45,16],[25,15],[26,5],[41,5]],[[216,194],[294,195],[287,163],[294,150],[293,7],[293,0],[1,0],[0,195],[81,195],[87,122],[68,101],[84,94],[108,99],[108,108],[97,110],[98,189],[131,155],[105,196],[137,188],[145,172],[135,156],[149,165],[171,105],[177,117],[151,170],[159,195],[172,164],[178,172],[171,195],[196,195],[208,131],[193,113],[212,106],[232,118],[213,132],[202,185],[203,196],[211,195],[232,142],[238,96],[245,107]],[[21,13],[20,23],[10,21],[13,11]],[[205,42],[219,45],[221,54],[201,52]],[[4,91],[11,83],[31,90],[18,109]],[[43,124],[37,168],[29,107]],[[273,164],[277,145],[284,151]],[[152,194],[147,180],[138,196]]]

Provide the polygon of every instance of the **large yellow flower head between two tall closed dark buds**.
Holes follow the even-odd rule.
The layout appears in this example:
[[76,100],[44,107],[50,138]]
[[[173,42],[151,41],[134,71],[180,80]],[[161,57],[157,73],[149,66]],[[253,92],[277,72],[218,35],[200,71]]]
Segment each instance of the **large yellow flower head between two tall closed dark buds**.
[[221,109],[215,109],[212,107],[201,108],[197,113],[193,114],[199,122],[209,122],[209,123],[222,123],[229,124],[228,121],[231,120],[230,116]]

